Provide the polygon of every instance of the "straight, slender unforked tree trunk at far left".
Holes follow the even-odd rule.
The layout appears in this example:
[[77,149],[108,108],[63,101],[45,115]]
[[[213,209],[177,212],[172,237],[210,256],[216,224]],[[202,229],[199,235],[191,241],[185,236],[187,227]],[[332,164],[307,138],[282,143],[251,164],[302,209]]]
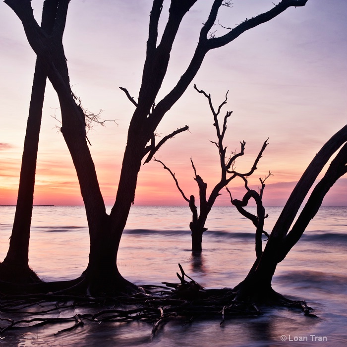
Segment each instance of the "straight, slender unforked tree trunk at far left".
[[[41,28],[52,33],[58,1],[45,1],[42,11]],[[37,282],[39,279],[29,268],[29,238],[34,200],[35,173],[42,108],[46,89],[46,73],[42,61],[37,58],[29,115],[27,120],[18,196],[9,248],[0,265],[2,280],[13,282]]]

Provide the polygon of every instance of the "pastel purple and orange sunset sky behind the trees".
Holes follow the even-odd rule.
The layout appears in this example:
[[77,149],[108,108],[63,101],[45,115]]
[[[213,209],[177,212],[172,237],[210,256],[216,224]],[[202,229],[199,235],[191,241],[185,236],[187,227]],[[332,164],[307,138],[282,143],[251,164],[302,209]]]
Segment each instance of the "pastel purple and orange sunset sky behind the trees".
[[[42,3],[32,0],[41,21]],[[106,205],[113,205],[127,127],[133,105],[118,87],[136,100],[151,9],[150,0],[72,0],[63,44],[73,92],[90,112],[102,110],[106,127],[88,133]],[[183,19],[173,46],[168,74],[158,101],[175,85],[189,63],[202,23],[212,1],[199,0]],[[168,17],[170,1],[164,1],[160,33]],[[218,16],[225,27],[262,13],[271,0],[234,0]],[[222,116],[228,121],[225,145],[245,155],[236,169],[248,171],[263,142],[269,145],[257,171],[249,177],[257,189],[259,177],[273,174],[266,183],[263,201],[283,206],[307,165],[323,144],[347,123],[347,2],[308,0],[306,6],[289,8],[272,21],[253,28],[229,45],[209,52],[193,83],[211,93],[215,107],[228,103]],[[225,33],[214,27],[214,35]],[[27,43],[20,20],[0,4],[0,204],[15,204],[26,119],[35,66],[35,54]],[[79,186],[67,147],[59,132],[59,103],[47,85],[40,135],[35,204],[81,205]],[[175,173],[184,193],[198,195],[190,157],[197,173],[208,184],[218,182],[217,148],[213,118],[207,99],[191,85],[164,117],[160,136],[189,125],[189,131],[169,140],[156,154]],[[242,198],[240,180],[229,185],[233,198]],[[217,205],[230,204],[223,191]],[[159,163],[142,166],[136,205],[185,205],[170,174]],[[347,206],[347,178],[341,178],[323,205]]]

